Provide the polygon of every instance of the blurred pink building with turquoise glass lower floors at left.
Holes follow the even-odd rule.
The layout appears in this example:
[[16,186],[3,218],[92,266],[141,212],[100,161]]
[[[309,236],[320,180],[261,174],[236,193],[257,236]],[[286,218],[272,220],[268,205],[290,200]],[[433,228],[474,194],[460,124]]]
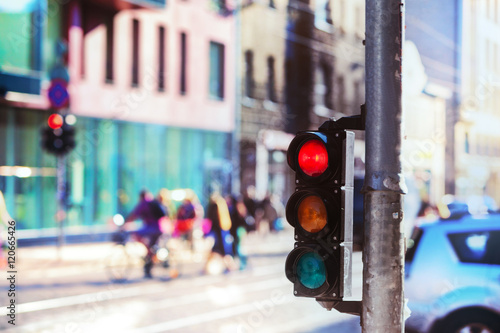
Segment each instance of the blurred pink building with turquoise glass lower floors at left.
[[[58,59],[70,76],[64,112],[77,117],[67,225],[92,228],[126,214],[143,188],[191,188],[202,200],[230,190],[236,34],[223,2],[6,3],[0,190],[19,229],[56,226],[56,158],[40,149],[40,129]],[[55,51],[60,40],[67,55]]]

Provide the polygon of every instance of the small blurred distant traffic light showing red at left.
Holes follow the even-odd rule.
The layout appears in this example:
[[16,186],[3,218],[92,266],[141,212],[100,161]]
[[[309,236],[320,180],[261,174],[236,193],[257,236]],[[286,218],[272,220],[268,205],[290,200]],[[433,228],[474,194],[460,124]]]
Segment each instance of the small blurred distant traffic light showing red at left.
[[47,126],[42,129],[41,144],[49,153],[66,155],[75,148],[75,128],[66,122],[66,117],[51,114]]

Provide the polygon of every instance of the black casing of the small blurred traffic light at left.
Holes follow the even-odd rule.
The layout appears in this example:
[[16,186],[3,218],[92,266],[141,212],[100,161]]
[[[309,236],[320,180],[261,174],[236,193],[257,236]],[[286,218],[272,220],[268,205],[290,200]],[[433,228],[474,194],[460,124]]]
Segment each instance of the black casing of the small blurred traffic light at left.
[[47,152],[63,156],[68,154],[76,146],[75,128],[64,122],[59,128],[45,126],[41,131],[41,146]]

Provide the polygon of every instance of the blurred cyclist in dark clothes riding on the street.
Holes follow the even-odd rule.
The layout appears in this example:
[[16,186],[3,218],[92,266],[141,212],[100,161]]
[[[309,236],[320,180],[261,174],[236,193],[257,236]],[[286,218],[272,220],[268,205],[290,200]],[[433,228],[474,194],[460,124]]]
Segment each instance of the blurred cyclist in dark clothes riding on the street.
[[139,203],[125,219],[125,222],[137,219],[142,220],[142,227],[134,235],[147,249],[146,256],[144,257],[145,278],[152,278],[151,269],[153,267],[154,247],[162,234],[160,219],[163,216],[165,216],[165,212],[158,200],[154,200],[150,192],[143,190],[139,194]]

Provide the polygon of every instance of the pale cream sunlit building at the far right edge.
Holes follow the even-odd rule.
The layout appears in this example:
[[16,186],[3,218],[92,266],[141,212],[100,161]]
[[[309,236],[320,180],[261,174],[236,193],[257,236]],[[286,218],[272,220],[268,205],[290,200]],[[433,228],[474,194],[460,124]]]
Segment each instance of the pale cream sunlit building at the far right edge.
[[457,195],[500,198],[500,4],[463,2]]

